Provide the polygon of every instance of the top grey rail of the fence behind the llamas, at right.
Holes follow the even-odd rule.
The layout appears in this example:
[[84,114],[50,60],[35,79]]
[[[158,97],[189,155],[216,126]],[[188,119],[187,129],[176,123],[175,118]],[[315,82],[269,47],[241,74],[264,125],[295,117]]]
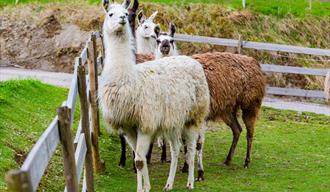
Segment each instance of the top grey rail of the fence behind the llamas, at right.
[[225,39],[225,38],[216,38],[216,37],[204,37],[197,35],[175,35],[175,40],[191,42],[191,43],[207,43],[213,45],[229,46],[256,49],[256,50],[265,50],[265,51],[281,51],[288,53],[297,53],[297,54],[307,54],[307,55],[318,55],[318,56],[328,56],[330,57],[329,49],[318,49],[318,48],[306,48],[292,45],[281,45],[275,43],[261,43],[253,41],[241,41],[235,39]]

